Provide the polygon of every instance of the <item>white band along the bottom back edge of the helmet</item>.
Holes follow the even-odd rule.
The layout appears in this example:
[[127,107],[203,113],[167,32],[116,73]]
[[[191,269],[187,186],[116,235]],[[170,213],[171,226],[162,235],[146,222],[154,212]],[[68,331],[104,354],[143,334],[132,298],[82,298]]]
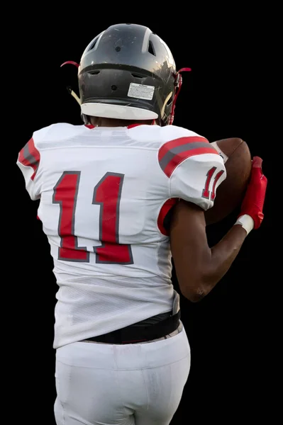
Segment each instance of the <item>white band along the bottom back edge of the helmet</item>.
[[108,103],[82,103],[84,115],[120,120],[156,120],[157,113],[133,106],[111,105]]

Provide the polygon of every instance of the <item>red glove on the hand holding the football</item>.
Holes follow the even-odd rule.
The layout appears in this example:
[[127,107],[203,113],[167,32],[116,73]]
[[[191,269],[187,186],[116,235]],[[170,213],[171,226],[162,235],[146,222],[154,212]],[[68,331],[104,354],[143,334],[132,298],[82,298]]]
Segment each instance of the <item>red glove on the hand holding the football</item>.
[[250,172],[250,181],[239,215],[239,217],[244,214],[250,215],[255,222],[254,229],[260,227],[264,217],[262,210],[265,203],[266,187],[267,178],[262,173],[262,159],[260,157],[254,157]]

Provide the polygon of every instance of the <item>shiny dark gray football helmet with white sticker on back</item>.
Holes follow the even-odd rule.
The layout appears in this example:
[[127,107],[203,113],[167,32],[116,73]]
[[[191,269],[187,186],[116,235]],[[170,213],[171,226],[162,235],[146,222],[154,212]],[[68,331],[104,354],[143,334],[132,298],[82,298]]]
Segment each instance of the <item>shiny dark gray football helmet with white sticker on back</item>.
[[170,49],[149,28],[110,26],[91,40],[79,64],[82,114],[167,124],[176,75]]

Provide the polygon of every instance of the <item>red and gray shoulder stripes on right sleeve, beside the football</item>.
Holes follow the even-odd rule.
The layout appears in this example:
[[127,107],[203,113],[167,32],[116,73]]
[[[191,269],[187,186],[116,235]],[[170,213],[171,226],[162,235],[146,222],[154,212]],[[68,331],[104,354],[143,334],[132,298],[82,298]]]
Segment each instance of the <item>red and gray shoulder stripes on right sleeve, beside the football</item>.
[[174,169],[185,159],[201,154],[218,155],[218,152],[205,137],[179,137],[160,147],[158,161],[162,171],[167,177],[170,177]]

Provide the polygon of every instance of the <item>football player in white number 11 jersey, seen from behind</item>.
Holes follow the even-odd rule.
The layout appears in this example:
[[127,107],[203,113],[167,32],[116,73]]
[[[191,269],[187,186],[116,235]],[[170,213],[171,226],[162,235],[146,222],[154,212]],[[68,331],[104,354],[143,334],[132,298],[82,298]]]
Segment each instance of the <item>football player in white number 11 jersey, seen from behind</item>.
[[172,125],[182,79],[165,42],[113,25],[78,79],[84,124],[36,130],[17,162],[59,287],[56,423],[167,425],[190,368],[171,258],[182,294],[201,300],[260,227],[267,180],[255,158],[240,217],[210,249],[204,211],[226,169],[205,137]]

